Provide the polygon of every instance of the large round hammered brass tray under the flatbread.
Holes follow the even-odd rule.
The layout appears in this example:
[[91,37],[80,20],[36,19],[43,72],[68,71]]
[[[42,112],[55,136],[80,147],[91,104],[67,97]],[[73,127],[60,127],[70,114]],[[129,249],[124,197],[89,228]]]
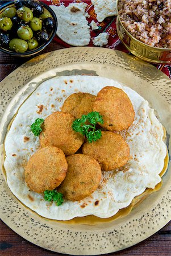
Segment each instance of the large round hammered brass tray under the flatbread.
[[61,75],[103,76],[136,90],[156,110],[168,133],[171,151],[171,81],[164,73],[136,57],[111,49],[74,47],[45,53],[23,64],[0,84],[1,218],[26,240],[59,253],[106,254],[135,245],[170,221],[171,168],[162,177],[160,191],[148,196],[128,216],[94,226],[65,224],[40,217],[24,207],[7,187],[2,170],[7,126],[20,104],[41,81]]

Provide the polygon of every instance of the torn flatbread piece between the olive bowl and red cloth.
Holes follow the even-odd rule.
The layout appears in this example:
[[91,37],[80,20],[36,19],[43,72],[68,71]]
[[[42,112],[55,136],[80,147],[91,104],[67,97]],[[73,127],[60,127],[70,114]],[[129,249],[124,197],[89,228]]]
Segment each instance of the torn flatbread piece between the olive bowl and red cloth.
[[70,3],[68,7],[50,5],[57,17],[57,36],[71,46],[87,46],[90,42],[86,6],[86,3]]

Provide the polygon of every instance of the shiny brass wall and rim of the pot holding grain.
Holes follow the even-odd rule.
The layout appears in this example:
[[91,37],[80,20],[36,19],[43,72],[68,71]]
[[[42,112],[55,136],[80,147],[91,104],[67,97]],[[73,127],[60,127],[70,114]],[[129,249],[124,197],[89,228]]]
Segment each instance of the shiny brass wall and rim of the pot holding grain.
[[171,48],[158,48],[148,46],[147,44],[144,44],[140,42],[138,39],[134,38],[134,36],[132,36],[130,32],[126,30],[118,14],[119,1],[120,0],[117,0],[116,28],[120,40],[128,49],[128,51],[130,51],[139,59],[148,61],[150,63],[171,63]]

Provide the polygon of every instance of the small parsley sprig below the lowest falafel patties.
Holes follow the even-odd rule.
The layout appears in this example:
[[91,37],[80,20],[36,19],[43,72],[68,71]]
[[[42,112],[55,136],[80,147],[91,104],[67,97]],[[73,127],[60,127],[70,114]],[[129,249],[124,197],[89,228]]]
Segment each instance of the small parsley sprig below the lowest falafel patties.
[[45,190],[44,200],[49,202],[54,201],[57,206],[64,202],[62,193],[59,193],[56,190]]

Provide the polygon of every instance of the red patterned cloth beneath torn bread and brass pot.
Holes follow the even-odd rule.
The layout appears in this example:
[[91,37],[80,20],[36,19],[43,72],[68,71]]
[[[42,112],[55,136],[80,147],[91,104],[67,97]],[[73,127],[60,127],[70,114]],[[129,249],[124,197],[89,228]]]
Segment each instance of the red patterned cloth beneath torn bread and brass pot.
[[[105,1],[105,0],[104,0]],[[47,5],[60,5],[61,3],[63,3],[65,6],[68,6],[69,3],[73,3],[73,2],[85,2],[87,3],[87,7],[86,7],[86,13],[90,15],[90,18],[87,18],[88,22],[90,23],[91,20],[94,20],[98,26],[99,29],[98,30],[91,30],[91,40],[89,43],[89,46],[93,46],[93,42],[92,39],[97,36],[99,33],[102,32],[107,32],[107,34],[109,34],[109,39],[108,39],[108,44],[105,46],[105,48],[109,48],[109,49],[117,49],[119,51],[122,52],[126,52],[128,54],[131,54],[126,47],[123,46],[122,42],[119,39],[119,36],[117,34],[116,31],[116,16],[112,16],[112,17],[108,17],[105,20],[103,20],[103,22],[98,22],[97,18],[96,18],[96,14],[94,13],[94,7],[91,4],[90,0],[75,0],[75,1],[70,1],[70,0],[47,0],[47,1],[42,1],[47,3]],[[58,36],[55,36],[55,38],[53,39],[55,40],[57,43],[61,44],[62,46],[65,47],[72,47],[69,44],[63,42]],[[158,69],[160,69],[162,72],[164,72],[170,79],[171,79],[171,64],[169,65],[155,65]]]

